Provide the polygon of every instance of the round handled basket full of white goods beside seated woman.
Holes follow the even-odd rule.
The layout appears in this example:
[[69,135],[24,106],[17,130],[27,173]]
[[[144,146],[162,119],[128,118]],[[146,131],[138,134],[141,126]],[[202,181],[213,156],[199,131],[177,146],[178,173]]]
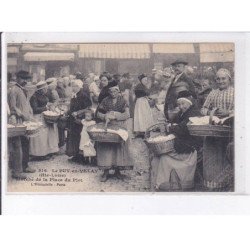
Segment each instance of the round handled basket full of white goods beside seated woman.
[[163,128],[165,128],[165,123],[155,124],[145,133],[145,142],[155,155],[167,154],[174,150],[175,136],[164,134]]

